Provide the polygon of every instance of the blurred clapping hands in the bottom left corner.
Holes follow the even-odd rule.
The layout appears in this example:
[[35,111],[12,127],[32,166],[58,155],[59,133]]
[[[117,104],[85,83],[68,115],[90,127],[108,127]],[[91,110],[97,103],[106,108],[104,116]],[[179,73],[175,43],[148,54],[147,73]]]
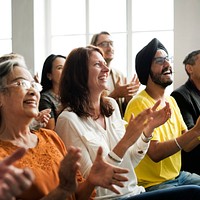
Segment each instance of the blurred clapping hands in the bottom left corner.
[[13,200],[32,185],[33,172],[28,168],[19,169],[13,166],[25,152],[24,148],[20,148],[0,161],[0,200]]

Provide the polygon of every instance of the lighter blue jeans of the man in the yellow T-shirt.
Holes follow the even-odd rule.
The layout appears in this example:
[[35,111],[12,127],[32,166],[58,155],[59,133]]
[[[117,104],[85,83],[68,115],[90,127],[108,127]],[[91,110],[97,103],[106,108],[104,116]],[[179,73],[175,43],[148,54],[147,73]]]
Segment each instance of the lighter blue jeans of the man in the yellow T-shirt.
[[200,186],[200,176],[195,173],[181,171],[180,175],[176,177],[174,180],[165,181],[161,184],[154,185],[145,189],[147,192],[149,192],[149,191],[166,189],[166,188],[176,188],[177,186],[183,186],[183,185],[199,185]]

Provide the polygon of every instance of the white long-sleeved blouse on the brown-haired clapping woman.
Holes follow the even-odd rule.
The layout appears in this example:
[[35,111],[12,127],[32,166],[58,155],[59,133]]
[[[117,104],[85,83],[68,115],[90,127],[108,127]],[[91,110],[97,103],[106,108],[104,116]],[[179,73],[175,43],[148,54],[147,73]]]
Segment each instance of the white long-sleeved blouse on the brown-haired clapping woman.
[[[80,171],[84,177],[87,177],[90,172],[99,146],[103,148],[103,155],[107,162],[115,166],[129,169],[127,175],[129,181],[124,183],[125,187],[120,188],[115,186],[120,191],[121,195],[117,195],[108,189],[97,187],[97,196],[95,199],[118,199],[119,197],[129,197],[145,191],[142,186],[137,185],[137,177],[134,168],[138,165],[140,160],[143,159],[149,147],[149,143],[145,143],[141,137],[139,137],[137,142],[128,149],[123,159],[120,159],[112,152],[125,133],[125,121],[121,119],[116,101],[112,98],[109,98],[109,100],[112,103],[114,112],[110,117],[105,117],[106,130],[91,117],[87,119],[80,118],[76,113],[67,110],[64,110],[59,115],[55,128],[55,131],[61,137],[66,147],[73,145],[81,149],[82,158],[80,160]],[[108,153],[119,158],[121,162],[115,162],[110,159]]]

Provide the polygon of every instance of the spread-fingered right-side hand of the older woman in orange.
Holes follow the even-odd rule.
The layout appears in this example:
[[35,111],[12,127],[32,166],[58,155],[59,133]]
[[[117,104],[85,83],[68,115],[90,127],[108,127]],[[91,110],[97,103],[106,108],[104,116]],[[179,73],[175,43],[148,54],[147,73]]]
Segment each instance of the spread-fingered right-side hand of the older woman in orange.
[[101,186],[119,194],[119,191],[114,187],[114,185],[119,187],[124,186],[123,182],[128,181],[128,178],[122,174],[128,173],[128,170],[105,162],[102,153],[102,147],[99,147],[88,179],[90,183],[95,186]]

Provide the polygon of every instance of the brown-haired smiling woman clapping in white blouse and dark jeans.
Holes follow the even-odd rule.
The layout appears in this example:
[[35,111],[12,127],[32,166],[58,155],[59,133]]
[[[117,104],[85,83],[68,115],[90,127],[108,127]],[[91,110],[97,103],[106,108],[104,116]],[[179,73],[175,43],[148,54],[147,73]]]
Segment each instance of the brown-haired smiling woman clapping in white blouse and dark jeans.
[[[123,189],[119,188],[120,195],[98,187],[97,199],[189,199],[191,193],[185,192],[187,187],[145,193],[144,188],[137,185],[134,168],[148,149],[152,130],[163,124],[171,111],[168,103],[156,111],[159,100],[136,118],[132,116],[125,131],[116,101],[102,95],[108,75],[109,67],[98,47],[72,50],[61,75],[60,96],[64,110],[55,128],[66,146],[81,148],[80,170],[85,178],[99,146],[103,147],[107,162],[129,169],[129,181]],[[200,190],[200,187],[195,188]]]

